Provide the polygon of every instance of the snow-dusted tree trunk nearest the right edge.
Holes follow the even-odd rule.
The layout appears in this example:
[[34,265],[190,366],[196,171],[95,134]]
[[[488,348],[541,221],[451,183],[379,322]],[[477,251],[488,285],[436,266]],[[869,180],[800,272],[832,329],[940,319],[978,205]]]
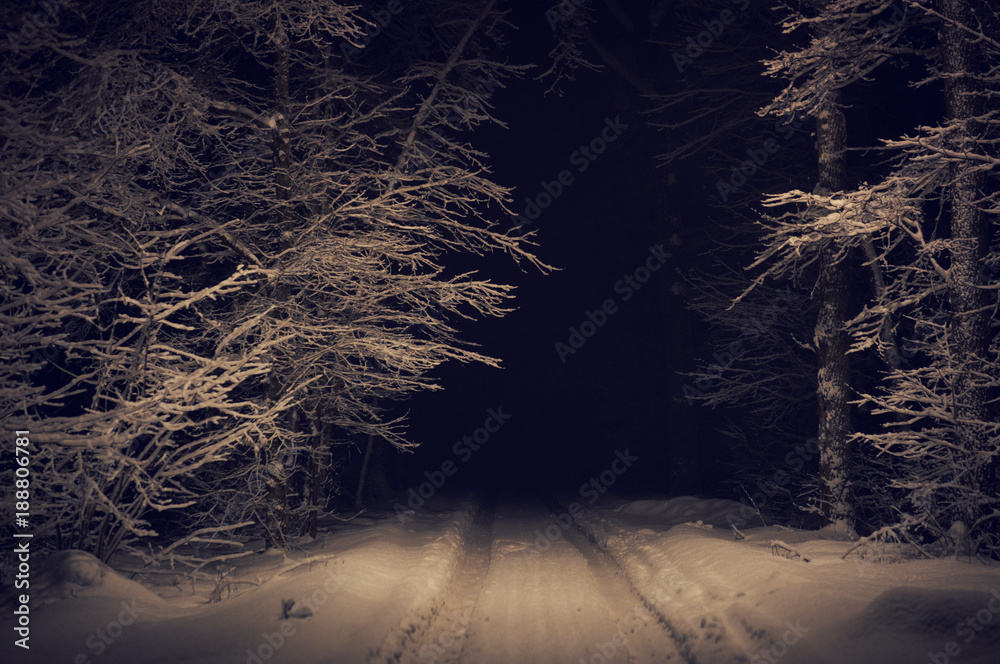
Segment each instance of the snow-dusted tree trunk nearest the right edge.
[[[970,5],[969,0],[942,0],[941,3],[946,19],[940,35],[941,53],[945,71],[952,74],[945,82],[945,105],[948,120],[957,123],[958,127],[949,147],[957,152],[974,149],[969,143],[981,135],[982,129],[975,120],[983,112],[982,90],[973,78],[980,73],[982,66],[979,46],[955,25],[976,25]],[[981,9],[986,11],[986,8]],[[991,441],[982,423],[992,420],[990,388],[983,384],[981,378],[990,371],[992,314],[991,298],[983,289],[982,274],[983,259],[989,249],[989,224],[977,204],[983,196],[986,180],[985,173],[974,166],[972,162],[952,163],[948,196],[951,238],[960,242],[951,252],[951,321],[948,331],[955,371],[955,442],[967,452],[970,463],[979,465],[975,476],[969,478],[976,486],[969,488],[985,497],[996,498],[996,458],[985,464],[974,460],[979,454],[991,450]],[[975,522],[983,514],[961,516]]]

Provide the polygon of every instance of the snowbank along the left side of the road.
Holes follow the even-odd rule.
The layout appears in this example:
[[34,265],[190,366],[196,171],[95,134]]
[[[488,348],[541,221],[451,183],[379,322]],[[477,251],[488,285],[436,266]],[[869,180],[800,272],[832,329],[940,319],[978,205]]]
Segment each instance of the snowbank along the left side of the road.
[[165,600],[87,554],[64,552],[39,577],[47,603],[33,613],[30,653],[12,652],[5,639],[0,661],[386,661],[435,610],[471,519],[470,503],[425,509],[346,527],[294,553],[241,559],[216,583],[242,594],[223,593],[217,603],[204,589],[192,596],[173,588]]

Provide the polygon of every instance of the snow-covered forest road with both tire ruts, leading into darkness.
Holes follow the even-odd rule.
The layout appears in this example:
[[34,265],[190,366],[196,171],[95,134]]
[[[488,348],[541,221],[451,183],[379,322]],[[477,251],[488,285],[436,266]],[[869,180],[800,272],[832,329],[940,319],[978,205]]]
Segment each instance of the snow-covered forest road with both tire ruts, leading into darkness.
[[[543,535],[554,528],[558,537]],[[614,561],[540,503],[480,512],[463,561],[420,631],[404,652],[380,651],[369,661],[688,661]]]

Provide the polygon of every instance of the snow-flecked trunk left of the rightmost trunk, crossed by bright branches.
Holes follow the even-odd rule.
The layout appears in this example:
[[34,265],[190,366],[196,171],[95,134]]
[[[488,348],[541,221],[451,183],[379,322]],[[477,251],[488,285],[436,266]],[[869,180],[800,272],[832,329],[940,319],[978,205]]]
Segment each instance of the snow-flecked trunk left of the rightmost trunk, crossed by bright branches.
[[[819,160],[818,193],[829,194],[845,187],[844,146],[847,125],[838,102],[839,92],[832,91],[816,116],[816,147]],[[853,525],[849,496],[848,463],[850,458],[850,363],[849,339],[844,329],[847,320],[847,270],[836,261],[837,247],[826,247],[819,259],[816,285],[820,301],[814,341],[817,362],[817,401],[820,446],[820,478],[824,516],[830,522],[846,521]]]

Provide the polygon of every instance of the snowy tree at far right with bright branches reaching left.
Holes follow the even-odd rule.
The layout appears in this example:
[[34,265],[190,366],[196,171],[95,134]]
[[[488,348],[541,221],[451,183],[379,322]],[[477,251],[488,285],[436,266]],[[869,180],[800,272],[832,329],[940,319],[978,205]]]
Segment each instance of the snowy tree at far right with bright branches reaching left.
[[[983,275],[996,249],[987,215],[996,210],[988,174],[997,165],[989,110],[997,17],[984,3],[910,4],[917,11],[904,26],[874,21],[888,3],[830,3],[820,14],[831,26],[825,38],[772,63],[801,80],[778,104],[820,109],[828,90],[894,57],[926,56],[932,74],[923,83],[942,84],[947,113],[937,127],[886,141],[898,164],[873,185],[771,197],[768,205],[793,211],[768,222],[759,263],[775,274],[800,271],[831,249],[836,260],[863,257],[873,297],[845,329],[855,353],[874,350],[884,362],[881,389],[863,400],[885,429],[854,439],[897,457],[888,479],[905,496],[879,532],[920,544],[945,539],[961,521],[974,549],[995,552],[996,295]],[[814,22],[799,16],[790,27]]]

